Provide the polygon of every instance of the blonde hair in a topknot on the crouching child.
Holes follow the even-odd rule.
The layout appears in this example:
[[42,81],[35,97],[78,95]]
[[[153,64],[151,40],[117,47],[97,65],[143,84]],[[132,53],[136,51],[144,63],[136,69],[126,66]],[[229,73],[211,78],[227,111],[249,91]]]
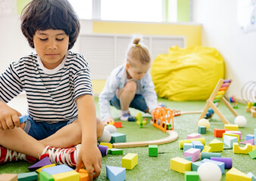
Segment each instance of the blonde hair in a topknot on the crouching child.
[[133,64],[132,60],[140,60],[143,64],[148,64],[151,62],[150,54],[148,48],[144,45],[139,44],[140,38],[134,38],[133,45],[127,53],[127,62]]

